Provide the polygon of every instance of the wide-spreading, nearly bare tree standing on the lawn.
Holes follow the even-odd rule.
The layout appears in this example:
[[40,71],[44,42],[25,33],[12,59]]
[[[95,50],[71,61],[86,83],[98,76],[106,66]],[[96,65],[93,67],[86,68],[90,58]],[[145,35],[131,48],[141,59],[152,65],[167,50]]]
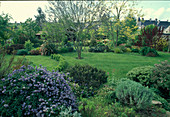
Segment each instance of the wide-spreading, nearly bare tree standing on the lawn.
[[[81,59],[82,43],[85,40],[85,29],[95,26],[102,15],[102,2],[95,1],[55,1],[49,2],[49,15],[51,19],[60,20],[65,31],[74,30],[71,36],[74,47]],[[70,31],[71,31],[70,30]],[[74,38],[74,39],[73,39]]]

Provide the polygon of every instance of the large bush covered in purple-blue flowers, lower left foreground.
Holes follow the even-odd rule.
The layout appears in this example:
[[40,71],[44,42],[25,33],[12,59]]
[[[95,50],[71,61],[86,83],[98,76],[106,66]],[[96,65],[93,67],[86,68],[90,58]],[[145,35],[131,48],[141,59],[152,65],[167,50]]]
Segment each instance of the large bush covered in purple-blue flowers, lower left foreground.
[[[68,80],[67,80],[68,79]],[[46,68],[22,66],[2,79],[0,116],[58,116],[63,107],[77,110],[69,78]]]

